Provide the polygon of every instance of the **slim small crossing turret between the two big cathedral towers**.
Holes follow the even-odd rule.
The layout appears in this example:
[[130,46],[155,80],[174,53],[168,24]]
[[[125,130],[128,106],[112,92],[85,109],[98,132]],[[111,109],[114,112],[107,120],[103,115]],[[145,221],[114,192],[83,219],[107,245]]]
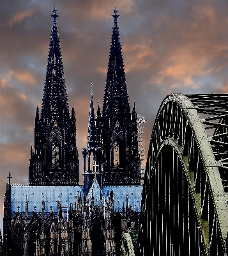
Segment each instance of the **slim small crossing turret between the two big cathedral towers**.
[[101,184],[101,172],[102,172],[102,148],[97,140],[96,136],[96,120],[95,111],[93,107],[93,88],[91,84],[90,93],[90,108],[89,108],[89,122],[87,132],[86,148],[82,149],[83,155],[83,182],[84,182],[84,196],[87,193],[93,183],[93,179],[96,177],[98,184]]

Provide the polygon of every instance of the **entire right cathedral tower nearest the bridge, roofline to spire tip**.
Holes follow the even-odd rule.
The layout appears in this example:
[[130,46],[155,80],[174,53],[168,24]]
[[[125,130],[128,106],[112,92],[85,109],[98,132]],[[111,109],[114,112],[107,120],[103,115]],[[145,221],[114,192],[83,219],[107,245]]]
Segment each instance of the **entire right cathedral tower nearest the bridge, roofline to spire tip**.
[[[110,45],[109,64],[103,99],[100,141],[103,145],[103,184],[140,184],[141,171],[137,142],[135,106],[130,113],[117,10]],[[98,109],[99,110],[99,109]],[[99,136],[98,136],[99,137]]]

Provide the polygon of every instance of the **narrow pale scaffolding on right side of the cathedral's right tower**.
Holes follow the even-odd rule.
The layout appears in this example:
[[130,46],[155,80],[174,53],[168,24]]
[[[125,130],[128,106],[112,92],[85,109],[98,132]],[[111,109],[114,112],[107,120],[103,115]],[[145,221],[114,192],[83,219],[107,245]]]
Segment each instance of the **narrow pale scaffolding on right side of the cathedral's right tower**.
[[144,116],[137,115],[138,124],[138,145],[139,145],[139,156],[141,162],[141,179],[144,180],[145,175],[145,136],[144,136],[144,124],[148,122]]

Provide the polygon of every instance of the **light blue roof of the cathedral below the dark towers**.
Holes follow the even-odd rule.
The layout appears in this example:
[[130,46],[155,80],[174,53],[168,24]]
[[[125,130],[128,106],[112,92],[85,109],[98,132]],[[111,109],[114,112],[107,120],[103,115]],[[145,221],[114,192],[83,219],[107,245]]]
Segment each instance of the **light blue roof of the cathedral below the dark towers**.
[[[94,204],[100,203],[100,192],[102,192],[102,202],[107,200],[107,196],[113,191],[114,211],[122,211],[123,205],[132,205],[133,210],[141,211],[142,186],[103,186],[100,188],[98,181],[93,180],[86,199],[91,201],[92,193]],[[28,200],[28,212],[42,212],[42,200],[45,202],[45,212],[57,212],[57,201],[61,201],[62,207],[70,207],[75,204],[75,196],[78,193],[83,195],[83,186],[11,186],[11,212],[25,212],[26,200]],[[128,199],[127,199],[128,198]]]

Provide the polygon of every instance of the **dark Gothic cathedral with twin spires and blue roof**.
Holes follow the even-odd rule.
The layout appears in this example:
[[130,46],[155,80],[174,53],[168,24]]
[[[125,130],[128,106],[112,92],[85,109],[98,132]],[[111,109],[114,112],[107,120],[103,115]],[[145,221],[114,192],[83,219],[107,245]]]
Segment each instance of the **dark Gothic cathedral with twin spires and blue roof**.
[[0,252],[12,256],[122,255],[124,233],[134,237],[137,247],[142,186],[137,113],[135,106],[130,111],[118,11],[115,8],[112,15],[103,108],[98,104],[96,111],[91,84],[87,142],[82,149],[83,185],[79,184],[76,117],[68,106],[56,8],[52,12],[29,184],[12,185],[9,173]]

